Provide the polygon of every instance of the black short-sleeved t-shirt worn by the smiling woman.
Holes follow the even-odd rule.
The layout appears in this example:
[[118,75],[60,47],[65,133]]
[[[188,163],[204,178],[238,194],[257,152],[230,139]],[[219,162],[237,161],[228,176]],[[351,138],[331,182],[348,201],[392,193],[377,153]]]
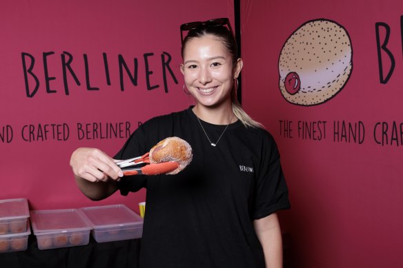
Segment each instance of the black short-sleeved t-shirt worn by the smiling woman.
[[[264,267],[253,220],[290,207],[273,136],[237,121],[213,147],[191,108],[140,125],[115,156],[140,156],[170,136],[193,148],[193,161],[179,174],[119,182],[123,195],[147,188],[140,265]],[[201,122],[212,142],[226,127]]]

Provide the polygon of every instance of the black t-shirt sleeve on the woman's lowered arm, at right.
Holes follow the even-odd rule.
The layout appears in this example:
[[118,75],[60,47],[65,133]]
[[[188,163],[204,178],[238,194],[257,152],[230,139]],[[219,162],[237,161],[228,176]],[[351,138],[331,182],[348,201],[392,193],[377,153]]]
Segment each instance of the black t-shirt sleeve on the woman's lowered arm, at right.
[[290,209],[288,187],[280,155],[273,136],[268,134],[262,146],[262,159],[255,184],[253,218],[264,218],[279,209]]

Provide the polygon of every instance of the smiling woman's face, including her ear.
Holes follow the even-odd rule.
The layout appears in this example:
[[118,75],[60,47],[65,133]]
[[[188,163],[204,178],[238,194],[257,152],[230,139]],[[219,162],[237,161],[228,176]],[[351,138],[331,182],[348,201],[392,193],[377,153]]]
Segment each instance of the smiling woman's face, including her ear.
[[[240,59],[238,65],[242,68]],[[208,35],[186,43],[181,72],[199,105],[217,107],[230,103],[230,92],[240,68],[234,68],[231,55],[216,37]]]

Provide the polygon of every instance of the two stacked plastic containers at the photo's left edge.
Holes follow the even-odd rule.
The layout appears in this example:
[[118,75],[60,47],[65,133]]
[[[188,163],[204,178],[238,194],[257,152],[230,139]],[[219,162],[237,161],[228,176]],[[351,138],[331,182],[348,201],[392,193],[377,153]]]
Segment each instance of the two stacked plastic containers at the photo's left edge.
[[27,249],[29,216],[26,198],[0,200],[0,253]]

